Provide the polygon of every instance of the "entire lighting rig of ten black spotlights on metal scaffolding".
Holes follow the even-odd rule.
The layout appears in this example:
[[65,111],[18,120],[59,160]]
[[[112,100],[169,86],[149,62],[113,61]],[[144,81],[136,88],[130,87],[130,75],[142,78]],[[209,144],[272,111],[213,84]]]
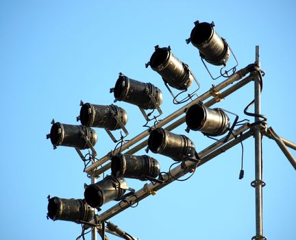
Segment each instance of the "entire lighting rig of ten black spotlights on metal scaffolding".
[[[223,66],[223,69],[230,58],[230,53],[234,56],[226,40],[214,31],[214,23],[195,22],[195,27],[186,42],[191,42],[199,49],[201,60],[207,71],[208,67],[204,60],[214,66]],[[197,167],[207,163],[234,145],[242,143],[250,136],[254,136],[256,173],[251,186],[256,189],[256,235],[252,239],[266,239],[262,230],[262,187],[265,185],[262,179],[260,150],[262,136],[268,136],[275,140],[295,169],[296,160],[287,147],[296,149],[296,144],[281,138],[272,128],[268,128],[267,117],[260,113],[260,94],[264,72],[260,69],[259,47],[256,46],[254,64],[249,64],[247,67],[236,71],[238,65],[236,61],[236,66],[226,70],[225,73],[222,73],[221,69],[219,77],[226,79],[216,86],[213,85],[212,88],[201,95],[197,95],[199,82],[195,75],[187,64],[184,64],[171,53],[171,47],[161,48],[156,46],[146,67],[149,65],[151,69],[161,75],[165,86],[173,97],[173,102],[185,105],[172,112],[162,121],[158,121],[157,117],[162,115],[160,109],[162,91],[151,83],[139,82],[120,73],[114,88],[111,88],[110,92],[114,93],[115,101],[126,101],[140,108],[147,121],[144,126],[148,127],[142,133],[129,141],[124,140],[128,134],[125,129],[127,112],[114,104],[103,106],[84,104],[81,101],[81,110],[77,121],[80,121],[82,125],[64,124],[53,120],[47,139],[51,139],[54,148],[58,146],[74,147],[84,162],[86,162],[88,156],[91,165],[85,165],[84,171],[92,179],[92,184],[85,186],[84,200],[49,197],[48,218],[82,224],[82,235],[77,239],[84,238],[85,231],[88,228],[91,228],[93,240],[97,239],[97,233],[102,239],[108,239],[106,232],[123,239],[136,239],[127,232],[120,230],[110,221],[107,222],[107,220],[125,211],[130,206],[138,204],[145,197],[154,195],[156,191],[166,187],[171,182],[180,180],[187,173],[193,174]],[[210,71],[208,72],[210,73]],[[212,78],[217,79],[218,77]],[[254,81],[255,90],[254,101],[251,101],[244,112],[246,115],[254,117],[254,123],[245,122],[245,119],[238,121],[238,115],[228,110],[211,108],[217,102],[252,81]],[[197,84],[197,89],[189,93],[187,97],[178,100],[177,97],[188,91],[193,82]],[[181,91],[181,93],[173,94],[169,86]],[[255,104],[255,112],[247,112],[247,109],[253,104]],[[158,110],[159,115],[149,118],[152,112],[147,114],[145,110],[152,112]],[[227,113],[236,116],[233,123],[231,123]],[[147,124],[151,120],[155,122],[152,126],[148,126]],[[221,136],[221,139],[214,139],[212,145],[197,152],[195,143],[188,136],[172,132],[183,123],[186,123],[186,132],[189,132],[189,130],[200,131],[212,139],[217,136]],[[112,141],[117,143],[114,150],[99,159],[95,158],[97,152],[94,146],[97,143],[97,133],[93,128],[104,128]],[[110,132],[113,130],[123,130],[125,136],[121,134],[121,138],[116,140]],[[160,171],[160,163],[155,158],[149,155],[134,155],[145,147],[147,147],[147,154],[150,150],[155,154],[167,156],[174,160],[173,165],[177,166],[172,168],[173,165],[171,165],[167,172]],[[81,150],[84,149],[90,149],[91,154],[82,154]],[[108,169],[111,170],[110,175],[97,182],[97,178]],[[125,178],[134,178],[150,183],[145,183],[141,189],[135,191],[127,187]],[[242,171],[240,178],[243,178]],[[119,203],[102,211],[101,206],[113,200],[119,201]],[[97,214],[97,211],[100,211],[100,213]]]

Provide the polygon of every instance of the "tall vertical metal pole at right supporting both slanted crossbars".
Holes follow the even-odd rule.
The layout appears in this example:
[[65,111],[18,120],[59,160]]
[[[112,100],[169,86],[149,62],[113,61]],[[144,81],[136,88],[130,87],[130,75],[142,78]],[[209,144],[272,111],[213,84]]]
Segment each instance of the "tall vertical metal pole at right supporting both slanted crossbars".
[[[259,61],[259,46],[256,46],[256,65],[260,69]],[[261,87],[259,77],[255,78],[255,121],[260,121],[260,99],[261,99]],[[256,125],[255,132],[255,181],[252,182],[252,186],[255,187],[256,194],[256,237],[253,239],[265,239],[263,237],[263,224],[262,224],[262,134],[261,125]]]

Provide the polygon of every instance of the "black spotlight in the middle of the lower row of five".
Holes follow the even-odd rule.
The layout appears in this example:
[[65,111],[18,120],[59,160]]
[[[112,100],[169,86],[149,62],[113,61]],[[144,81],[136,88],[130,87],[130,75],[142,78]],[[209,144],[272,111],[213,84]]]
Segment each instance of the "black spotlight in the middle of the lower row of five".
[[116,154],[111,158],[112,176],[117,178],[136,178],[145,181],[160,174],[158,160],[150,156]]

